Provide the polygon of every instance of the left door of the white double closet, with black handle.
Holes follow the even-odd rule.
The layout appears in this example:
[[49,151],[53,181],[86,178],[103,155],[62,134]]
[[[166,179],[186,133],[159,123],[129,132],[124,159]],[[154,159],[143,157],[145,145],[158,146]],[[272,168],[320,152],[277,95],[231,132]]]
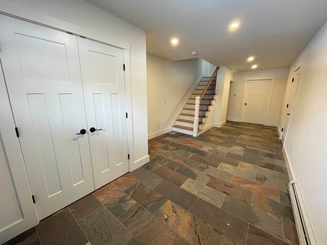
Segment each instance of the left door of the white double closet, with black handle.
[[0,15],[0,58],[42,219],[95,189],[76,36]]

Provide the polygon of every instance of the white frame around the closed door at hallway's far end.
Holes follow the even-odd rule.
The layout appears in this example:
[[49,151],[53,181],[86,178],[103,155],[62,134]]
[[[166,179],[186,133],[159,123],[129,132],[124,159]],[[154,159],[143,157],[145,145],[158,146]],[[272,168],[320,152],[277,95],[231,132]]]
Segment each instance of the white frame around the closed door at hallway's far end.
[[245,86],[246,86],[246,83],[248,81],[259,81],[259,80],[270,80],[269,91],[267,92],[267,94],[269,95],[269,103],[268,103],[268,105],[266,105],[266,108],[265,108],[266,112],[265,112],[265,115],[264,115],[264,124],[263,125],[275,126],[275,125],[272,125],[270,122],[268,122],[268,116],[269,116],[269,112],[270,112],[272,93],[273,93],[273,90],[274,90],[276,77],[244,78],[242,104],[241,104],[241,112],[240,112],[241,121],[244,121],[244,113],[245,113],[244,103],[245,103]]

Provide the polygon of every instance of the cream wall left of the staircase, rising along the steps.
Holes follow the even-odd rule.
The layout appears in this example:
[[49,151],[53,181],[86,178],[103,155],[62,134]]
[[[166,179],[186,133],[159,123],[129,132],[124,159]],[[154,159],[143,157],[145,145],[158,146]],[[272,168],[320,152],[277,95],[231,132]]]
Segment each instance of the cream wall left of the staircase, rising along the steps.
[[210,64],[199,58],[172,62],[147,54],[149,139],[171,130],[197,81],[209,76],[209,70]]

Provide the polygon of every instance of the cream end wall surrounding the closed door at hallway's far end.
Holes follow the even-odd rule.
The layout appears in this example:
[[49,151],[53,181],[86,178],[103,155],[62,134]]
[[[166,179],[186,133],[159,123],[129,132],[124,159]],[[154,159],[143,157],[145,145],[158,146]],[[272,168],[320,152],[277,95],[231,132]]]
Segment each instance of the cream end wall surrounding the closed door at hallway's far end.
[[[244,80],[249,78],[271,78],[276,77],[270,110],[268,114],[268,124],[277,126],[279,113],[281,112],[282,101],[288,76],[288,68],[272,70],[243,71],[235,75],[234,82],[230,84],[227,120],[241,121],[242,96]],[[236,96],[234,94],[237,94]]]

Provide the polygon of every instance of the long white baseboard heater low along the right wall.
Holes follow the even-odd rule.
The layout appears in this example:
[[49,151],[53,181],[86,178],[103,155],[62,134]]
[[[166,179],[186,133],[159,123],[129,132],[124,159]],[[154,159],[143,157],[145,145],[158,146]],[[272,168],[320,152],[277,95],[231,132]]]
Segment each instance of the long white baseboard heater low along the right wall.
[[289,183],[288,188],[290,191],[295,225],[300,245],[317,245],[297,182],[292,180]]

